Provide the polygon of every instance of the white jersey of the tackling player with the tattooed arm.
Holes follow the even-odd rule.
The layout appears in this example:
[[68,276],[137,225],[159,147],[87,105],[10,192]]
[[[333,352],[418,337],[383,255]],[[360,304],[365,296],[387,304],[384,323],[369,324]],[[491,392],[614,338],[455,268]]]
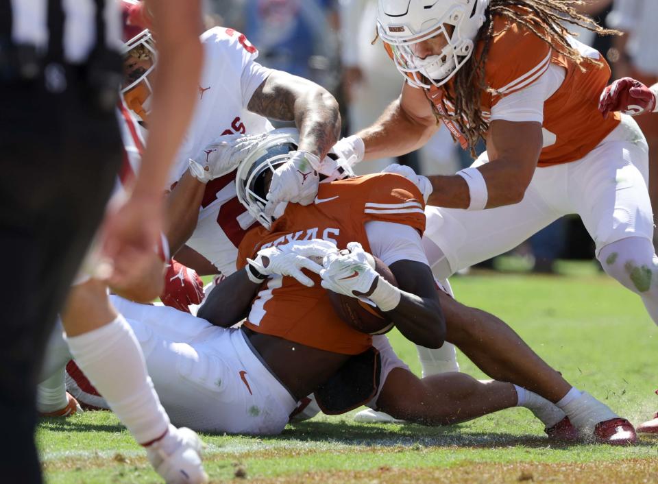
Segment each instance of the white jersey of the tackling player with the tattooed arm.
[[[202,36],[204,68],[199,97],[169,183],[180,180],[188,159],[204,161],[204,149],[226,134],[258,134],[273,130],[267,118],[249,112],[254,91],[271,72],[257,62],[258,51],[234,29],[214,27]],[[197,228],[187,245],[208,259],[221,274],[235,271],[237,246],[254,219],[236,198],[235,172],[208,183]]]

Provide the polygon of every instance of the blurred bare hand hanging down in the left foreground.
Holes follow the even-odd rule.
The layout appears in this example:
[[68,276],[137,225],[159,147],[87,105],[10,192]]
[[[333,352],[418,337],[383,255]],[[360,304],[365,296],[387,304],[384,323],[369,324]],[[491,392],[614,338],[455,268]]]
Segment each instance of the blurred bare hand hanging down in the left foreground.
[[105,278],[110,287],[130,287],[151,271],[161,241],[162,205],[161,193],[134,192],[126,202],[108,208],[101,226],[101,254],[112,264]]

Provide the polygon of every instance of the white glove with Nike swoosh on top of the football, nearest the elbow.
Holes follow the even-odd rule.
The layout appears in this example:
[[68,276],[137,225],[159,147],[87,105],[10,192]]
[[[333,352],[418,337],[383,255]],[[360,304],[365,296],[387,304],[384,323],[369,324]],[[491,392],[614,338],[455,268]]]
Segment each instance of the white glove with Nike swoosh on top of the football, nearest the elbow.
[[324,289],[374,303],[382,311],[391,311],[400,303],[400,289],[377,273],[374,257],[358,242],[348,243],[347,250],[339,254],[329,254],[322,265]]

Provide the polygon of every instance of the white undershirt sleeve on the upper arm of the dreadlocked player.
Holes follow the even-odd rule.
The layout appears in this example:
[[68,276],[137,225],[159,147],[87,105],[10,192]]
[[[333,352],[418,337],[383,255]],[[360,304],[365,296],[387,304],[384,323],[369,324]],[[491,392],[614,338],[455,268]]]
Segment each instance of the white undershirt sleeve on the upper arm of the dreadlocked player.
[[503,97],[491,107],[491,120],[544,122],[544,101],[562,85],[565,69],[550,64],[533,84]]

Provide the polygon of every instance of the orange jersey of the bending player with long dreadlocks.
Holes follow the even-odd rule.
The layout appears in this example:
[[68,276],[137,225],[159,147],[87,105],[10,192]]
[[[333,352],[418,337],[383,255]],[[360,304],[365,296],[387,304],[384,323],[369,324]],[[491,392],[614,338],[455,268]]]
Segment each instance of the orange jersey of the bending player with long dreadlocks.
[[[533,17],[530,12],[521,13]],[[494,92],[483,90],[480,102],[485,119],[500,99],[535,82],[549,64],[566,70],[562,85],[544,103],[544,149],[539,155],[540,167],[582,158],[616,128],[620,120],[619,113],[603,119],[598,112],[598,98],[610,77],[607,62],[598,51],[575,39],[570,40],[581,56],[598,62],[582,62],[578,66],[523,25],[511,23],[502,16],[493,19],[485,83]],[[478,44],[475,56],[480,56],[483,48],[483,43]],[[451,106],[446,108],[451,110]]]

